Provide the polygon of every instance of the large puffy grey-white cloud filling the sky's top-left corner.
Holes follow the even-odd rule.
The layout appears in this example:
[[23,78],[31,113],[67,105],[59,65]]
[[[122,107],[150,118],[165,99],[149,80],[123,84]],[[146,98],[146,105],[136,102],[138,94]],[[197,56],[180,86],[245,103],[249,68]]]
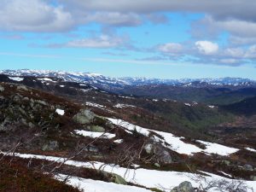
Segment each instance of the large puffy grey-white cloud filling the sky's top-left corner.
[[41,0],[2,0],[0,29],[21,32],[57,32],[73,27],[73,17],[61,7]]

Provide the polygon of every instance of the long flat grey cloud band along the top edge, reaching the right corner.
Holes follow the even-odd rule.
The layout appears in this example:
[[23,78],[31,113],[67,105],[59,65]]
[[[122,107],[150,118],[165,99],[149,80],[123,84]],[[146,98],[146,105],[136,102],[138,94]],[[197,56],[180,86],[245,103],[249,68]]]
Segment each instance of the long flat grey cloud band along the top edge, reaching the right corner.
[[189,11],[213,15],[218,20],[236,18],[256,20],[255,0],[209,1],[209,0],[59,0],[72,9],[94,11],[118,11],[122,13],[148,14],[156,12]]

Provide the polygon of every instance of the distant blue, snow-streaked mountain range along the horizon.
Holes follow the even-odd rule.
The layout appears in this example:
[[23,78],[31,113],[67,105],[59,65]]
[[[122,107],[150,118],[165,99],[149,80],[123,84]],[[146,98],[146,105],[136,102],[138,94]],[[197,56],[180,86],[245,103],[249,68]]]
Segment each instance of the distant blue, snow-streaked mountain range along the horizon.
[[105,90],[120,89],[127,85],[140,86],[148,84],[167,84],[183,87],[207,87],[207,86],[256,86],[256,81],[241,78],[223,79],[147,79],[147,78],[110,78],[97,73],[70,73],[63,71],[49,70],[2,70],[11,76],[35,76],[35,77],[54,77],[65,81],[90,84]]

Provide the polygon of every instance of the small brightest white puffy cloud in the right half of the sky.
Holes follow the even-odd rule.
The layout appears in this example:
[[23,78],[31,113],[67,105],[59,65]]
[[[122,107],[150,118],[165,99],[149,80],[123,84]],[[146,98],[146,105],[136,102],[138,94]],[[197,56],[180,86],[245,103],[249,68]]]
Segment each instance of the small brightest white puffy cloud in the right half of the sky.
[[197,41],[195,42],[195,46],[204,55],[213,55],[218,52],[218,44],[210,41]]

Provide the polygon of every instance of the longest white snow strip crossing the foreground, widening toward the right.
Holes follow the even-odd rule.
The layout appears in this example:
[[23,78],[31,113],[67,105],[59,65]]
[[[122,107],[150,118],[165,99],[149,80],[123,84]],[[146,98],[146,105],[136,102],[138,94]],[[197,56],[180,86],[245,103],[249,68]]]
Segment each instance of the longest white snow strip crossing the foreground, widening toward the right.
[[[60,157],[54,157],[54,156],[44,156],[44,155],[34,155],[34,154],[15,154],[15,156],[19,156],[20,158],[26,158],[26,159],[39,159],[39,160],[51,160],[56,162],[63,162],[65,159]],[[69,166],[77,166],[77,167],[87,167],[87,168],[96,168],[100,169],[104,163],[102,162],[81,162],[81,161],[75,161],[75,160],[67,160],[65,162],[66,165]],[[189,181],[192,183],[194,187],[199,187],[200,184],[203,186],[206,186],[207,183],[211,181],[216,180],[226,180],[227,182],[232,181],[240,181],[235,179],[229,179],[225,177],[220,177],[218,175],[214,175],[212,173],[203,172],[208,175],[208,177],[203,177],[201,175],[195,175],[193,173],[189,172],[165,172],[165,171],[156,171],[156,170],[148,170],[143,168],[137,168],[135,169],[126,169],[125,167],[120,167],[118,165],[104,165],[104,171],[105,172],[113,172],[115,174],[118,174],[125,178],[127,182],[140,184],[143,186],[146,186],[148,188],[165,188],[165,189],[172,189],[173,187],[177,186],[178,183],[182,183],[184,181]],[[199,177],[195,176],[201,176],[201,180],[195,180]],[[165,179],[163,179],[165,178]],[[75,181],[75,180],[73,180]],[[82,180],[81,180],[82,181]],[[86,180],[83,180],[83,182],[86,183]],[[255,181],[244,181],[248,187],[252,187],[254,190],[256,190],[256,182]],[[82,184],[82,183],[81,183]],[[89,185],[87,185],[89,186]],[[124,188],[124,185],[120,185],[122,188]],[[84,185],[85,187],[85,185]],[[92,187],[92,186],[90,186]],[[90,191],[89,187],[86,188],[86,190]],[[104,190],[106,191],[106,190]],[[108,190],[107,190],[108,191]],[[112,191],[122,191],[122,190],[115,190],[112,188]],[[126,190],[130,191],[130,190]],[[125,192],[126,192],[125,191]],[[137,190],[139,191],[139,190]],[[219,190],[209,190],[210,192],[217,192]],[[97,192],[97,191],[96,191]]]

